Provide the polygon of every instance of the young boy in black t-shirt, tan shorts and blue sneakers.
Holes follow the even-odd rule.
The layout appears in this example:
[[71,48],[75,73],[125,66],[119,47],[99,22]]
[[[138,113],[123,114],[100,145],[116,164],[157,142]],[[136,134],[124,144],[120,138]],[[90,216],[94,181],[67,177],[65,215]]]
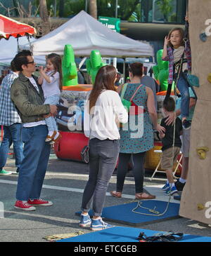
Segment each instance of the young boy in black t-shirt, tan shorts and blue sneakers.
[[[163,112],[165,116],[168,116],[175,109],[175,102],[172,97],[169,97],[162,105]],[[177,193],[177,188],[174,185],[174,177],[172,175],[172,169],[174,163],[177,161],[177,156],[179,155],[181,148],[180,135],[182,134],[182,123],[181,119],[177,117],[175,120],[175,136],[174,136],[174,125],[167,126],[165,123],[167,117],[162,119],[160,125],[165,127],[165,133],[160,132],[160,139],[162,140],[162,158],[161,158],[161,168],[166,171],[167,182],[162,190],[165,194],[175,194]],[[174,148],[173,148],[174,140]]]

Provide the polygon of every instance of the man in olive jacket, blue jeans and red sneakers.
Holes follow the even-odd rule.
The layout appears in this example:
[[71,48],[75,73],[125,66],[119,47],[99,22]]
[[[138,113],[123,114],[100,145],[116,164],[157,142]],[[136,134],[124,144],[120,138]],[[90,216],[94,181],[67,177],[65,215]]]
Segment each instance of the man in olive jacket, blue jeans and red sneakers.
[[48,129],[44,117],[55,115],[57,107],[44,105],[44,94],[33,76],[36,63],[29,50],[15,55],[14,64],[20,74],[11,86],[11,99],[23,122],[24,159],[20,165],[15,208],[35,210],[34,206],[51,206],[41,199],[41,187],[46,173],[51,145],[45,142]]

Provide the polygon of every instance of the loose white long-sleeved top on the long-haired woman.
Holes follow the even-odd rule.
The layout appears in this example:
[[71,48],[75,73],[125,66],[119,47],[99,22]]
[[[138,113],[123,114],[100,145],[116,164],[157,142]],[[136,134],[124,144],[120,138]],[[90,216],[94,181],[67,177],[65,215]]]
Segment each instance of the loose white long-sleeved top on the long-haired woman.
[[[92,114],[92,112],[91,112]],[[120,133],[116,120],[127,123],[128,113],[122,105],[120,96],[114,90],[103,90],[96,100],[94,116],[90,119],[89,100],[84,107],[84,134],[90,139],[96,137],[99,140],[119,140]]]

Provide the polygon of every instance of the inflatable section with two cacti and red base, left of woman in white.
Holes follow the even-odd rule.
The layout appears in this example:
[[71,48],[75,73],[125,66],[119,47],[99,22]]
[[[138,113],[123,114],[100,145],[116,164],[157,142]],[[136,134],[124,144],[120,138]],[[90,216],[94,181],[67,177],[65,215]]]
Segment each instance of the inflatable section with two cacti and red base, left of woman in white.
[[[102,62],[101,53],[92,50],[87,60],[87,72],[94,83],[98,69],[106,65]],[[80,151],[87,144],[88,138],[83,132],[84,101],[92,85],[77,83],[77,67],[72,46],[65,45],[63,54],[63,91],[58,105],[56,121],[61,140],[55,145],[56,156],[59,159],[82,161]]]

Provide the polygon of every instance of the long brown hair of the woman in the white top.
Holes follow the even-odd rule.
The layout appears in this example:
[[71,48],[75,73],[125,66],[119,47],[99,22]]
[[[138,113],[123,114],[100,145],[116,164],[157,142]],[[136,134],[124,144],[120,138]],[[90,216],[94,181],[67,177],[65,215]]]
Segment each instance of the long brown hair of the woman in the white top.
[[101,67],[96,74],[96,79],[94,82],[93,89],[89,95],[89,112],[91,107],[96,105],[96,100],[101,94],[102,90],[115,90],[115,77],[117,76],[117,71],[115,67],[111,65],[106,65]]

